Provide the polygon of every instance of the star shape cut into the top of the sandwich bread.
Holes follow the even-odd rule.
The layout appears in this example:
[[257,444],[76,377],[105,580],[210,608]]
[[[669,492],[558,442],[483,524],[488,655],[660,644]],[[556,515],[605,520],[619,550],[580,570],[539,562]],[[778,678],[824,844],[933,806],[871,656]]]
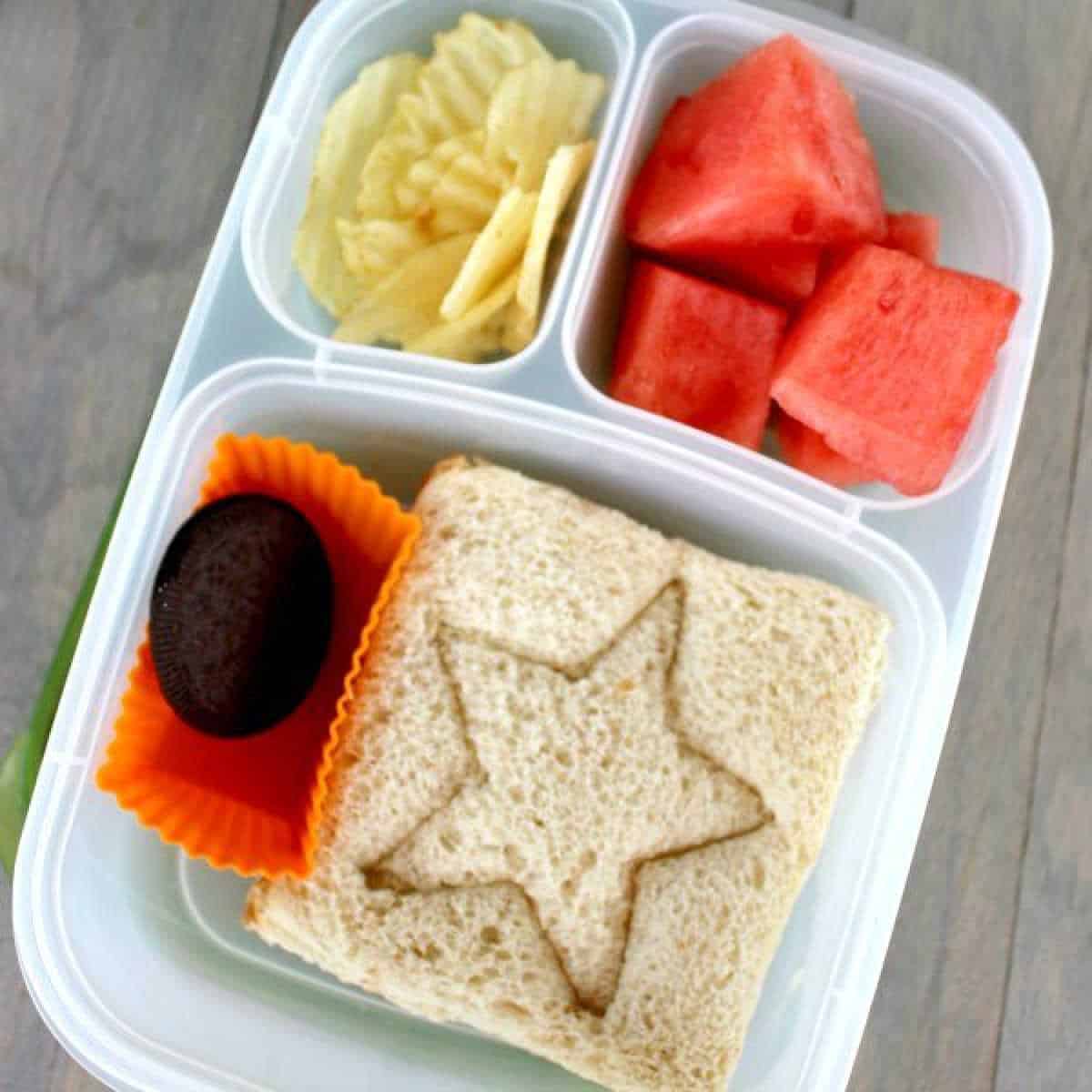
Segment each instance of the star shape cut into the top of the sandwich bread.
[[640,866],[770,818],[752,787],[677,728],[684,625],[685,591],[670,582],[575,675],[441,626],[471,773],[370,881],[416,892],[517,885],[580,1002],[605,1011]]

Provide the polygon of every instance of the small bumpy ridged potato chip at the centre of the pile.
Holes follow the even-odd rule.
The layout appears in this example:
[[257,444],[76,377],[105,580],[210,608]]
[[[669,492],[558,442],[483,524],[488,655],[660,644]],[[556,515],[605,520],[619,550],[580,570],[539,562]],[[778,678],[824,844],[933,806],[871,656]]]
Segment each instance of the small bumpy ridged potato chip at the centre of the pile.
[[437,144],[396,187],[401,215],[434,237],[478,232],[492,215],[509,174],[486,159],[485,134],[475,129]]

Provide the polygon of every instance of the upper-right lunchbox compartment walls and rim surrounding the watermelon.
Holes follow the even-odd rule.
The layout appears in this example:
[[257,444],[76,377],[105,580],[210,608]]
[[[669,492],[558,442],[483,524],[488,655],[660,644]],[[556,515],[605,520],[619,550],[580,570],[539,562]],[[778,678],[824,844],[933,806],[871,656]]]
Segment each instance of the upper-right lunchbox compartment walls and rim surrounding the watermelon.
[[939,216],[942,263],[993,277],[1024,297],[997,372],[939,489],[902,497],[882,485],[835,489],[787,465],[776,475],[791,485],[819,489],[835,505],[848,500],[863,509],[906,509],[929,503],[966,482],[999,432],[1019,416],[1040,318],[1036,296],[1049,269],[1049,217],[1038,176],[1008,122],[958,80],[790,16],[743,4],[725,8],[723,15],[674,23],[644,52],[566,314],[563,341],[573,380],[587,403],[609,419],[770,474],[769,466],[758,464],[771,456],[616,402],[606,387],[629,260],[622,213],[668,108],[776,34],[796,34],[834,68],[856,98],[889,207]]

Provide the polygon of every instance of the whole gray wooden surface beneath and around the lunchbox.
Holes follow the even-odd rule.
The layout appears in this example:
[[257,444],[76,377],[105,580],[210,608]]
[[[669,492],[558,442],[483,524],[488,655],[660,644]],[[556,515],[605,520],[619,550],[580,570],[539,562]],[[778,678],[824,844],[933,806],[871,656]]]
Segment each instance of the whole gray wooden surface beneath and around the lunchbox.
[[[25,722],[309,0],[0,0],[0,747]],[[854,1092],[1092,1087],[1092,3],[827,0],[1013,120],[1058,244],[959,703]],[[0,879],[0,1089],[90,1092]]]

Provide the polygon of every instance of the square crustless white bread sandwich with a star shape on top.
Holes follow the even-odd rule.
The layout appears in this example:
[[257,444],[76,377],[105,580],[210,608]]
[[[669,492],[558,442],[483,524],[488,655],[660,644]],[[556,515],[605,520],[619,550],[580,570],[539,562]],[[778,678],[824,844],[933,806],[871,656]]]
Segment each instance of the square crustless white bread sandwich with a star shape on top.
[[609,1088],[723,1088],[887,619],[466,460],[417,511],[314,871],[247,924]]

